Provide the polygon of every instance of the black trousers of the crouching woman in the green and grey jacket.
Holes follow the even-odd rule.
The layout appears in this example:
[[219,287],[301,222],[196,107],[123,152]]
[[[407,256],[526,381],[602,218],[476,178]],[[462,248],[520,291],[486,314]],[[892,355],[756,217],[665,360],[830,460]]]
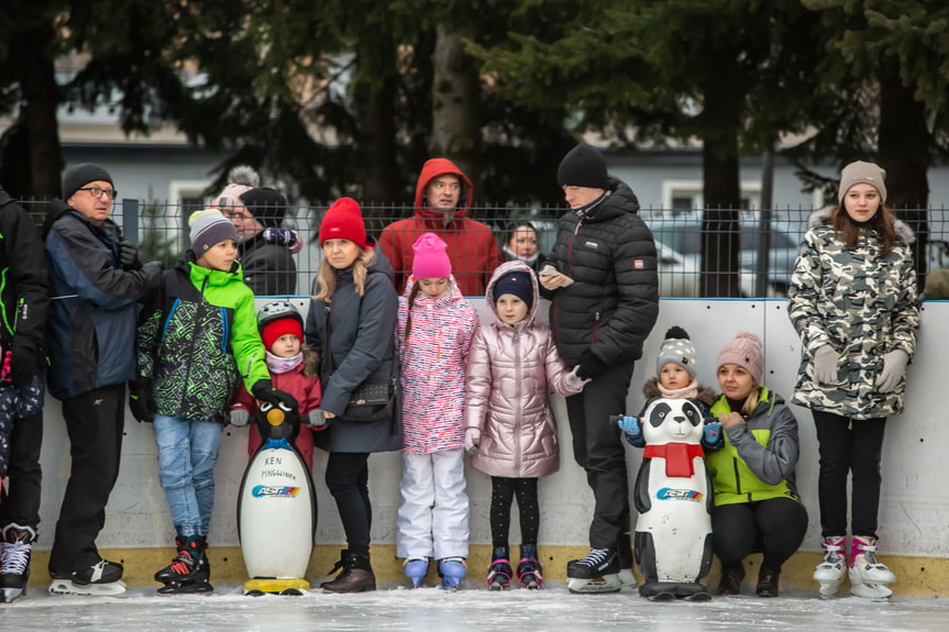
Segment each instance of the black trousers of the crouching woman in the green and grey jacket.
[[711,510],[711,543],[722,566],[764,553],[762,567],[780,570],[807,531],[807,510],[791,498],[722,505]]

